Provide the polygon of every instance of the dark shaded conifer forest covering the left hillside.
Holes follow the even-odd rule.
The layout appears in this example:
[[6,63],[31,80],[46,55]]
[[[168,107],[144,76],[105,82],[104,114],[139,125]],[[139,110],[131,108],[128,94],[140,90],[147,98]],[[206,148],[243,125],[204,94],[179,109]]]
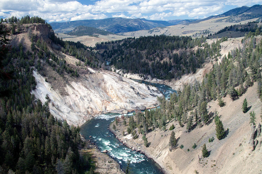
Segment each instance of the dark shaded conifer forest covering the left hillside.
[[61,44],[62,49],[71,54],[78,50],[79,58],[87,54],[86,47],[61,41],[54,37],[52,30],[51,40],[29,35],[32,52],[26,51],[23,43],[8,45],[10,32],[24,32],[25,25],[35,20],[44,23],[40,25],[47,25],[43,19],[29,16],[0,24],[0,173],[84,173],[91,164],[78,152],[82,146],[79,126],[69,126],[66,120],[54,118],[49,111],[48,95],[43,104],[31,95],[31,90],[36,88],[32,72],[34,68],[43,68],[43,60],[61,75],[77,76],[77,71],[48,51],[51,40],[52,44]]

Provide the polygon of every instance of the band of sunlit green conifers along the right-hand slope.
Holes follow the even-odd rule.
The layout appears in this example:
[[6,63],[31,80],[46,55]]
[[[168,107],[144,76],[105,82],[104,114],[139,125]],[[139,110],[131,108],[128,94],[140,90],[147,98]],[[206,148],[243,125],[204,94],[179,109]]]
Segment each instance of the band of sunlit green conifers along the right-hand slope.
[[[223,107],[223,97],[229,94],[231,99],[236,100],[256,81],[257,93],[262,101],[262,40],[257,41],[252,36],[245,38],[244,42],[243,50],[236,49],[224,56],[220,64],[214,64],[212,71],[205,75],[203,81],[185,85],[183,90],[172,94],[170,100],[159,98],[160,108],[145,111],[145,117],[138,114],[136,123],[130,118],[128,132],[136,127],[141,129],[139,132],[142,134],[149,129],[166,130],[167,122],[173,119],[177,120],[180,126],[186,124],[187,130],[191,131],[197,125],[208,124],[216,117],[216,113],[213,117],[208,115],[208,102],[217,100],[219,106]],[[191,111],[190,114],[188,111]]]

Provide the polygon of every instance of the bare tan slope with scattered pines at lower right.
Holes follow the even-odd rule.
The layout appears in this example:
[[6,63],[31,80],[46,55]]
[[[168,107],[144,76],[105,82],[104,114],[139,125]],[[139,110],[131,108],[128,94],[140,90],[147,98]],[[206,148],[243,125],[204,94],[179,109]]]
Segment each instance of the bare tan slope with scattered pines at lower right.
[[[179,126],[177,121],[168,123],[167,128],[172,124],[175,125],[175,135],[178,145],[171,152],[169,151],[169,138],[171,131],[162,131],[156,129],[146,135],[149,147],[144,146],[142,135],[139,138],[132,139],[131,134],[122,135],[123,130],[126,131],[128,126],[123,126],[121,119],[115,132],[118,138],[123,140],[128,146],[134,149],[144,151],[148,156],[152,157],[157,163],[165,168],[167,173],[194,173],[197,170],[199,173],[261,173],[260,167],[262,165],[262,137],[258,137],[257,145],[254,151],[250,150],[249,132],[251,126],[249,125],[249,112],[254,111],[257,115],[256,125],[259,124],[261,101],[257,90],[257,83],[247,89],[247,92],[233,101],[227,95],[224,98],[226,106],[220,108],[217,101],[208,103],[208,112],[212,113],[215,110],[219,112],[220,120],[224,128],[229,128],[229,133],[222,140],[216,138],[214,120],[201,128],[198,126],[190,133],[187,132],[186,126]],[[241,106],[242,101],[247,98],[250,110],[243,113]],[[128,119],[125,119],[128,125]],[[120,125],[120,126],[119,126]],[[208,142],[210,137],[215,137],[213,142]],[[193,149],[193,144],[197,144],[197,148]],[[202,146],[206,143],[210,156],[202,157]],[[183,144],[184,148],[179,146]],[[189,151],[187,151],[189,149]],[[198,159],[198,155],[201,158]]]

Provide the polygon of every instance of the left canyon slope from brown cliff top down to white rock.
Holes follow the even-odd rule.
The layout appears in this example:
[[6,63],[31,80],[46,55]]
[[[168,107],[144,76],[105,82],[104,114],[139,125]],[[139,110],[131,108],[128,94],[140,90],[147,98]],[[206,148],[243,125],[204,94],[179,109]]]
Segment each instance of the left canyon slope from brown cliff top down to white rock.
[[[23,32],[11,35],[13,46],[18,47],[21,43],[24,51],[33,52],[33,35],[36,40],[41,40],[40,47],[46,46],[45,49],[61,59],[60,63],[55,63],[46,51],[39,53],[43,48],[36,48],[34,61],[40,64],[41,70],[33,71],[37,86],[32,93],[43,103],[49,97],[50,112],[69,124],[81,125],[99,113],[134,110],[140,106],[154,107],[157,104],[156,96],[162,96],[155,87],[139,84],[114,72],[90,68],[65,51],[60,51],[61,46],[49,39],[52,31],[47,25],[27,24],[22,27]],[[39,58],[39,55],[43,55],[43,58]],[[61,66],[77,71],[79,77],[63,70],[61,73],[61,70],[58,71]]]

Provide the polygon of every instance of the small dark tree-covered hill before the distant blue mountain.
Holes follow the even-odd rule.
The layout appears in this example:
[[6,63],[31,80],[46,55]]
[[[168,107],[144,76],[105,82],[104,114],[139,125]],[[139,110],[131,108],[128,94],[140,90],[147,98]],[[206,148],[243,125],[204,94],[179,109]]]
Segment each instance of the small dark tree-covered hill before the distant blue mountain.
[[109,35],[113,33],[93,27],[77,26],[74,30],[66,34],[75,35],[75,36],[84,36],[84,35],[92,36],[92,35]]

